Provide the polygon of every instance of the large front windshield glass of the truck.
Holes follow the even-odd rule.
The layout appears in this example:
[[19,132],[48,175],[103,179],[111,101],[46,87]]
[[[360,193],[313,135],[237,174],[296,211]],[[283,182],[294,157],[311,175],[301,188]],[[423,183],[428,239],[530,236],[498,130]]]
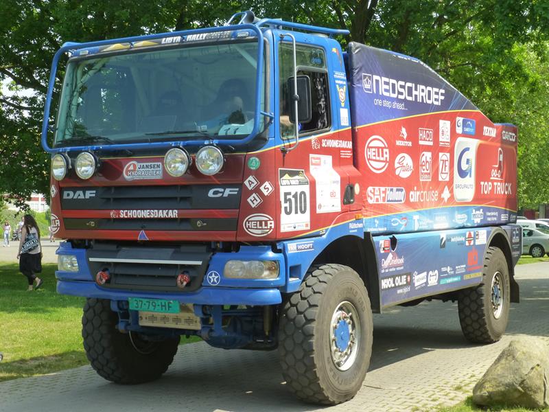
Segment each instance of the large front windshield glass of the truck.
[[55,146],[245,137],[256,71],[252,41],[69,61]]

